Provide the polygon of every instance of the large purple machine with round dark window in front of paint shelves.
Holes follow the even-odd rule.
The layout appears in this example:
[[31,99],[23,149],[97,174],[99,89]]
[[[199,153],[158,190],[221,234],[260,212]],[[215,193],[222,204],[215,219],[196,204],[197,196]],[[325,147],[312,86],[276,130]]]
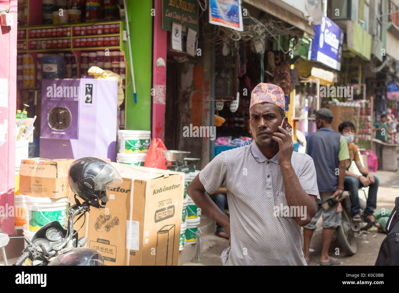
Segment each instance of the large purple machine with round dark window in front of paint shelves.
[[107,157],[115,162],[118,82],[43,79],[40,157]]

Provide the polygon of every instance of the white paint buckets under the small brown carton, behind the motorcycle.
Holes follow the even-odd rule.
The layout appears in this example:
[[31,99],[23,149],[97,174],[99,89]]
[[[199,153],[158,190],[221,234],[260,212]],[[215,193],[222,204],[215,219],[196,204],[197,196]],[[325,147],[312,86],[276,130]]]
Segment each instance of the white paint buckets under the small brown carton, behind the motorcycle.
[[[50,199],[15,195],[15,228],[22,229],[24,236],[31,240],[36,231],[49,222],[56,220],[64,226],[67,201],[67,197]],[[25,243],[25,246],[28,244]],[[30,265],[29,260],[26,260],[26,264]]]

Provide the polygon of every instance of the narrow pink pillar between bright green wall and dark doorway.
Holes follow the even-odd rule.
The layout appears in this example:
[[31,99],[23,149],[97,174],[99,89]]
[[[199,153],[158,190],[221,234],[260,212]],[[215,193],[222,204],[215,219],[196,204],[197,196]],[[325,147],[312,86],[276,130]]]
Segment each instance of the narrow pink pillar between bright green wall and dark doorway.
[[162,29],[162,0],[154,1],[154,9],[152,137],[160,138],[165,142],[166,41],[168,32]]

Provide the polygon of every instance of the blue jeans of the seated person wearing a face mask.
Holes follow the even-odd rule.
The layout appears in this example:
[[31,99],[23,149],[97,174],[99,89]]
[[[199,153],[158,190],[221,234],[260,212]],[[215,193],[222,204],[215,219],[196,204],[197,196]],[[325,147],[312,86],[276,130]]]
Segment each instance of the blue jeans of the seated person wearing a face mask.
[[[364,210],[365,215],[371,215],[374,213],[377,207],[377,190],[379,186],[379,180],[373,176],[375,181],[369,185],[369,194],[367,197],[366,208]],[[350,201],[352,203],[352,216],[360,214],[359,204],[359,189],[364,187],[360,180],[356,177],[345,176],[344,189],[350,192]]]

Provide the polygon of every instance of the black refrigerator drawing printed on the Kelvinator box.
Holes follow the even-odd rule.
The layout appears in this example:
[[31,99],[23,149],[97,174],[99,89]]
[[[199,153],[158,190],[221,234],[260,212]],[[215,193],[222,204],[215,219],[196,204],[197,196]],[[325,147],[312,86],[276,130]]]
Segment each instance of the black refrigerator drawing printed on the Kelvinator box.
[[155,265],[173,265],[175,225],[165,225],[156,234]]

